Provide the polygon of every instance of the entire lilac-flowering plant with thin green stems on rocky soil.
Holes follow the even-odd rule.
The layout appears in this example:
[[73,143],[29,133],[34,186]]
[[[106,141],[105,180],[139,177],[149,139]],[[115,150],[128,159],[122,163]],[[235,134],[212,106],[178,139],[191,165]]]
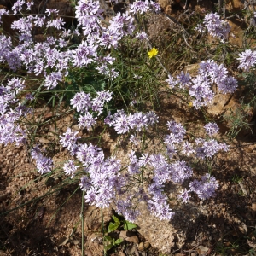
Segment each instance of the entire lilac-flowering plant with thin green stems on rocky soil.
[[[32,1],[19,0],[13,13],[22,14],[22,9],[31,6]],[[160,87],[154,83],[163,79],[162,72],[155,71],[154,65],[159,64],[147,61],[146,44],[150,39],[136,23],[136,15],[143,17],[159,10],[153,1],[137,0],[130,4],[129,11],[117,13],[107,24],[99,1],[79,0],[75,6],[78,27],[67,27],[56,9],[46,9],[44,15],[23,15],[12,23],[18,33],[17,42],[0,35],[0,62],[9,69],[9,77],[0,87],[0,142],[31,145],[30,155],[38,173],[50,175],[56,168],[55,160],[35,138],[42,123],[27,129],[22,121],[32,118],[32,107],[40,97],[54,108],[66,102],[65,109],[73,114],[76,126],[55,132],[56,143],[68,155],[61,171],[79,183],[84,201],[96,207],[114,207],[128,221],[136,221],[141,202],[154,216],[170,221],[175,214],[169,204],[170,187],[176,188],[175,198],[181,203],[191,200],[192,195],[201,200],[215,195],[218,180],[210,173],[195,179],[191,163],[210,161],[218,152],[229,150],[226,143],[218,142],[215,122],[204,126],[203,136],[189,137],[185,127],[170,117],[167,135],[160,133],[159,113],[148,99],[157,98]],[[3,15],[8,12],[2,10]],[[206,15],[203,25],[213,37],[224,43],[228,40],[230,25],[219,15]],[[33,38],[35,28],[45,31],[42,42]],[[199,26],[197,30],[201,31]],[[51,31],[58,32],[57,36]],[[72,43],[75,39],[76,44]],[[137,49],[143,50],[143,55],[133,49],[133,44],[139,44]],[[160,48],[150,48],[149,59],[161,54]],[[135,60],[139,58],[140,64]],[[237,60],[239,68],[249,70],[255,66],[255,52],[247,49]],[[38,78],[36,88],[29,87],[26,77],[15,75],[20,70]],[[200,61],[194,74],[165,70],[170,91],[183,92],[198,111],[211,104],[218,93],[232,94],[238,88],[238,80],[224,63],[212,59]],[[95,136],[99,127],[117,138],[111,154],[102,148],[103,132]],[[152,146],[150,132],[154,131],[161,135],[159,148]],[[96,143],[95,138],[99,138]],[[122,142],[129,149],[125,158],[118,150]]]

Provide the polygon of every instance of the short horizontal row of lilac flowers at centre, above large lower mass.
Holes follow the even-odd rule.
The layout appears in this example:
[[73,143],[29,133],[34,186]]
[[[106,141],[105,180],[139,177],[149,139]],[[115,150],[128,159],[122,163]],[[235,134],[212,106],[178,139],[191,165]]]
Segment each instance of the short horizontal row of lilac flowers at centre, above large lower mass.
[[152,111],[148,113],[130,113],[127,115],[124,110],[118,110],[113,115],[108,114],[104,122],[109,126],[113,126],[118,134],[124,134],[132,129],[136,131],[142,131],[144,128],[147,129],[148,125],[154,125],[158,122],[158,116]]

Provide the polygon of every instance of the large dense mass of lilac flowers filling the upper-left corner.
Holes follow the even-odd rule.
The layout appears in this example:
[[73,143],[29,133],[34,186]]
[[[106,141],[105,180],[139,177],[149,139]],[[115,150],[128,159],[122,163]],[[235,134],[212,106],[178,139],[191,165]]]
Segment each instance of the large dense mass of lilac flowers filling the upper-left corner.
[[[25,0],[18,0],[13,5],[13,11],[22,12],[25,7]],[[33,2],[27,2],[27,9]],[[151,8],[157,8],[153,2],[147,3]],[[143,8],[138,8],[143,10]],[[148,8],[146,8],[148,9]],[[131,35],[134,31],[133,18],[129,13],[118,13],[110,20],[109,26],[102,24],[102,12],[99,1],[78,1],[76,7],[76,18],[79,20],[79,26],[82,27],[84,40],[75,49],[66,49],[68,37],[74,34],[79,35],[78,30],[73,32],[66,31],[64,21],[55,17],[58,13],[56,9],[46,9],[42,16],[28,15],[15,20],[11,27],[19,32],[19,44],[14,46],[11,38],[0,36],[0,43],[3,45],[0,50],[0,62],[7,63],[9,67],[16,71],[22,65],[26,67],[29,73],[44,75],[45,87],[55,89],[64,76],[68,74],[68,69],[73,67],[87,67],[90,63],[96,63],[99,73],[110,77],[117,77],[119,73],[112,67],[114,58],[107,56],[105,58],[103,51],[99,55],[98,48],[117,48],[119,40],[126,35]],[[0,16],[8,14],[2,10]],[[61,38],[47,37],[44,42],[34,44],[32,40],[32,28],[38,27],[45,30],[55,28],[61,33]],[[63,50],[65,49],[65,50]],[[0,53],[1,53],[0,52]]]

